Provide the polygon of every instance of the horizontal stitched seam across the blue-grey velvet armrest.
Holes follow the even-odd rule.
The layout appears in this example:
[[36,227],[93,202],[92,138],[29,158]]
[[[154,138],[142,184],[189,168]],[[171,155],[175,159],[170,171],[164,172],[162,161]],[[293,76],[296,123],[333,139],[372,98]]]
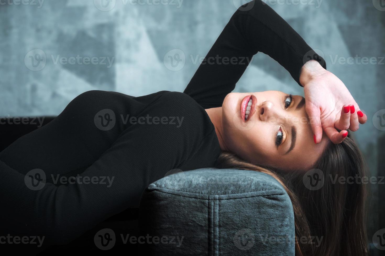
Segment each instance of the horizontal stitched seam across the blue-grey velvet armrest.
[[[181,194],[176,193],[176,192],[177,191],[184,192],[184,191],[172,190],[169,188],[167,188],[166,190],[171,190],[171,191],[164,191],[164,190],[160,190],[160,189],[154,189],[154,190],[161,192],[161,193],[169,194],[169,195],[177,195],[180,197],[196,198],[196,199],[203,199],[203,200],[209,200],[209,196],[213,195],[213,194],[199,194],[199,193],[194,193],[194,194],[196,194],[196,196],[181,195]],[[151,190],[151,192],[154,190]],[[174,192],[174,193],[172,193],[172,192]],[[232,199],[251,198],[251,197],[266,197],[266,196],[271,196],[271,195],[285,195],[285,193],[282,193],[282,191],[278,190],[278,189],[277,190],[253,191],[253,192],[245,192],[245,193],[258,193],[258,192],[261,192],[261,194],[260,195],[249,195],[249,196],[243,196],[243,197],[231,197],[231,198],[219,198],[219,196],[221,196],[221,195],[216,195],[216,196],[218,196],[218,200],[232,200]],[[262,193],[262,192],[269,192],[269,193]],[[192,192],[188,192],[188,193],[192,193]],[[241,194],[245,194],[245,193],[235,193],[235,194],[225,194],[225,195],[241,195]]]

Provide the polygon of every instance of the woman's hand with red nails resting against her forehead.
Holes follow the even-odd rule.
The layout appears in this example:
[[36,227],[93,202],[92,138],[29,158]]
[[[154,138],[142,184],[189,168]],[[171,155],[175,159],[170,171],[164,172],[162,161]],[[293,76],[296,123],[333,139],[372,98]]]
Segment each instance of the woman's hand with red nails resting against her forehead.
[[304,87],[306,113],[315,143],[321,141],[322,130],[333,143],[341,143],[347,129],[356,131],[359,123],[367,121],[367,116],[360,111],[345,84],[317,61],[311,60],[303,65],[300,83]]

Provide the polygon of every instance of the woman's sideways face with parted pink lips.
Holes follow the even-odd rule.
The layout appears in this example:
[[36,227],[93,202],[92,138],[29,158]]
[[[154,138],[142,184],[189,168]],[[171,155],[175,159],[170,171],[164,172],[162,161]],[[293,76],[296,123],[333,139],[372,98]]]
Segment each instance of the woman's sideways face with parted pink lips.
[[[246,112],[249,98],[250,113]],[[251,163],[282,170],[310,170],[330,141],[323,136],[315,144],[305,99],[280,91],[228,94],[222,105],[222,123],[229,151]]]

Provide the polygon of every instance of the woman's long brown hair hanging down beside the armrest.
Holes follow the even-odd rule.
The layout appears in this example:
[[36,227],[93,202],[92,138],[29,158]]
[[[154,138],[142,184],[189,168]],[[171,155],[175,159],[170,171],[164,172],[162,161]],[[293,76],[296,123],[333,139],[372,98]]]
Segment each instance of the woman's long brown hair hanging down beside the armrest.
[[[255,170],[273,176],[288,193],[295,216],[296,256],[367,256],[367,190],[363,157],[350,134],[340,144],[330,143],[313,167],[323,173],[323,185],[311,190],[302,172],[283,172],[251,164],[230,152],[222,152],[217,168]],[[341,179],[341,177],[343,177]],[[345,182],[344,182],[345,180]],[[342,181],[342,182],[341,182]],[[298,238],[322,238],[320,244]]]

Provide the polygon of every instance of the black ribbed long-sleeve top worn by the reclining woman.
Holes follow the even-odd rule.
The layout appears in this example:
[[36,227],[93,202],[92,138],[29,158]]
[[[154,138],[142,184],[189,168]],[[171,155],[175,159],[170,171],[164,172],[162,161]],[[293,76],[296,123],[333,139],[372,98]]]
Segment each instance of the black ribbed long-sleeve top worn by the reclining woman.
[[[304,60],[316,59],[326,68],[325,61],[268,5],[258,0],[253,8],[243,10],[234,13],[206,58],[251,59],[261,51],[287,69],[298,84]],[[110,216],[129,207],[137,207],[143,189],[162,178],[167,171],[214,166],[221,149],[213,123],[204,109],[222,106],[224,97],[233,91],[247,66],[245,61],[240,64],[201,65],[184,93],[161,91],[132,97],[116,92],[93,92],[77,97],[67,107],[67,112],[71,107],[82,107],[81,117],[66,119],[72,120],[74,126],[82,122],[80,118],[85,118],[87,111],[91,112],[90,122],[93,121],[94,106],[109,104],[106,99],[109,97],[119,98],[110,107],[116,113],[128,109],[131,116],[149,114],[184,119],[180,127],[129,125],[114,137],[109,149],[99,152],[98,159],[93,159],[93,164],[82,172],[82,176],[115,177],[108,188],[89,184],[57,186],[47,182],[40,190],[31,190],[25,184],[28,170],[41,168],[47,173],[65,172],[61,168],[66,168],[69,165],[67,162],[77,169],[92,157],[79,154],[70,146],[66,148],[68,138],[63,139],[61,146],[67,150],[65,157],[58,155],[55,145],[49,143],[35,143],[34,149],[25,147],[23,141],[33,140],[32,135],[24,140],[20,138],[0,154],[0,201],[4,206],[0,210],[0,234],[44,235],[47,243],[68,243]],[[84,101],[87,102],[82,104]],[[54,122],[51,122],[52,126]],[[39,137],[39,133],[41,136],[53,133],[50,124],[36,130],[35,137]],[[95,129],[95,126],[90,129]],[[77,129],[76,132],[83,133],[87,152],[97,152],[97,146],[87,144],[91,143],[86,140],[90,130]],[[60,136],[57,139],[60,140]],[[33,161],[40,165],[26,165],[23,160],[11,161],[15,156],[8,152],[18,152],[19,156],[34,154]],[[57,165],[53,168],[52,164],[45,163]]]

